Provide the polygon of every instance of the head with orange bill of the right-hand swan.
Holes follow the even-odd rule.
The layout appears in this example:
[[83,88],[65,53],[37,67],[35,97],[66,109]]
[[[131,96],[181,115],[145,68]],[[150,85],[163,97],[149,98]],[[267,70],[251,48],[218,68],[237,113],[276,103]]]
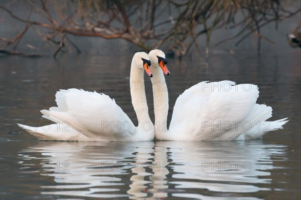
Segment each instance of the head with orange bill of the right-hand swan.
[[151,50],[149,53],[149,58],[150,61],[153,63],[153,66],[157,66],[157,67],[161,67],[161,69],[163,70],[163,72],[166,75],[171,74],[171,72],[168,70],[166,64],[167,64],[167,60],[165,58],[165,53],[160,50],[160,49],[154,49]]

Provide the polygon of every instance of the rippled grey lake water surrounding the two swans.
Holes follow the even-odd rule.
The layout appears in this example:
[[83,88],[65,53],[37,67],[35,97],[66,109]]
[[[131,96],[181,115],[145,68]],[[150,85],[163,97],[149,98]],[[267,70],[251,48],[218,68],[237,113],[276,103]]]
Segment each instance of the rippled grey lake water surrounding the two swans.
[[[261,53],[215,50],[208,60],[204,52],[168,58],[169,120],[179,94],[200,81],[253,83],[257,102],[273,108],[270,120],[289,119],[284,129],[257,140],[38,141],[16,124],[49,124],[40,110],[56,105],[59,89],[106,93],[137,123],[128,86],[135,51],[103,51],[95,38],[76,38],[86,46],[81,54],[1,55],[0,198],[300,199],[301,58],[285,38],[294,25],[265,29],[276,44]],[[146,76],[145,90],[154,121]]]

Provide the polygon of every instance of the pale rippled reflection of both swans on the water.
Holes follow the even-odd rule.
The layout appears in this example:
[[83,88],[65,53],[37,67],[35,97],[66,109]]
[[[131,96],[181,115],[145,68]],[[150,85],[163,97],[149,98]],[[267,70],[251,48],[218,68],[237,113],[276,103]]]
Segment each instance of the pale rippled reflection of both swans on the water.
[[261,140],[39,142],[19,155],[44,165],[41,178],[53,179],[41,185],[47,195],[250,199],[271,189],[273,157],[285,159],[285,150]]

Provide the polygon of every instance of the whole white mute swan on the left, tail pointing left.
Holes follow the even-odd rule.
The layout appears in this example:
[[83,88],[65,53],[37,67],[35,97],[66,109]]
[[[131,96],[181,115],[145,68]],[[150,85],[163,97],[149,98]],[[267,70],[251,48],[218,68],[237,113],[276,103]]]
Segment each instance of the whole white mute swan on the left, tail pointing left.
[[153,140],[155,129],[148,115],[143,68],[152,77],[149,56],[134,54],[130,68],[130,94],[138,119],[135,127],[129,117],[108,95],[82,89],[60,90],[57,107],[43,109],[43,117],[56,124],[32,127],[18,124],[41,140],[145,141]]

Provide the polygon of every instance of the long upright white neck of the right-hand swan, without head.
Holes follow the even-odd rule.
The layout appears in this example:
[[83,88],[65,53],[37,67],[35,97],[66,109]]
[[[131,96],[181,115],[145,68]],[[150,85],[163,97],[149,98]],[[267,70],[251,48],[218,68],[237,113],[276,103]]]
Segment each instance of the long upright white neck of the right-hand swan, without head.
[[168,90],[162,69],[160,67],[153,67],[152,72],[154,75],[151,80],[154,95],[155,134],[158,134],[168,131]]

